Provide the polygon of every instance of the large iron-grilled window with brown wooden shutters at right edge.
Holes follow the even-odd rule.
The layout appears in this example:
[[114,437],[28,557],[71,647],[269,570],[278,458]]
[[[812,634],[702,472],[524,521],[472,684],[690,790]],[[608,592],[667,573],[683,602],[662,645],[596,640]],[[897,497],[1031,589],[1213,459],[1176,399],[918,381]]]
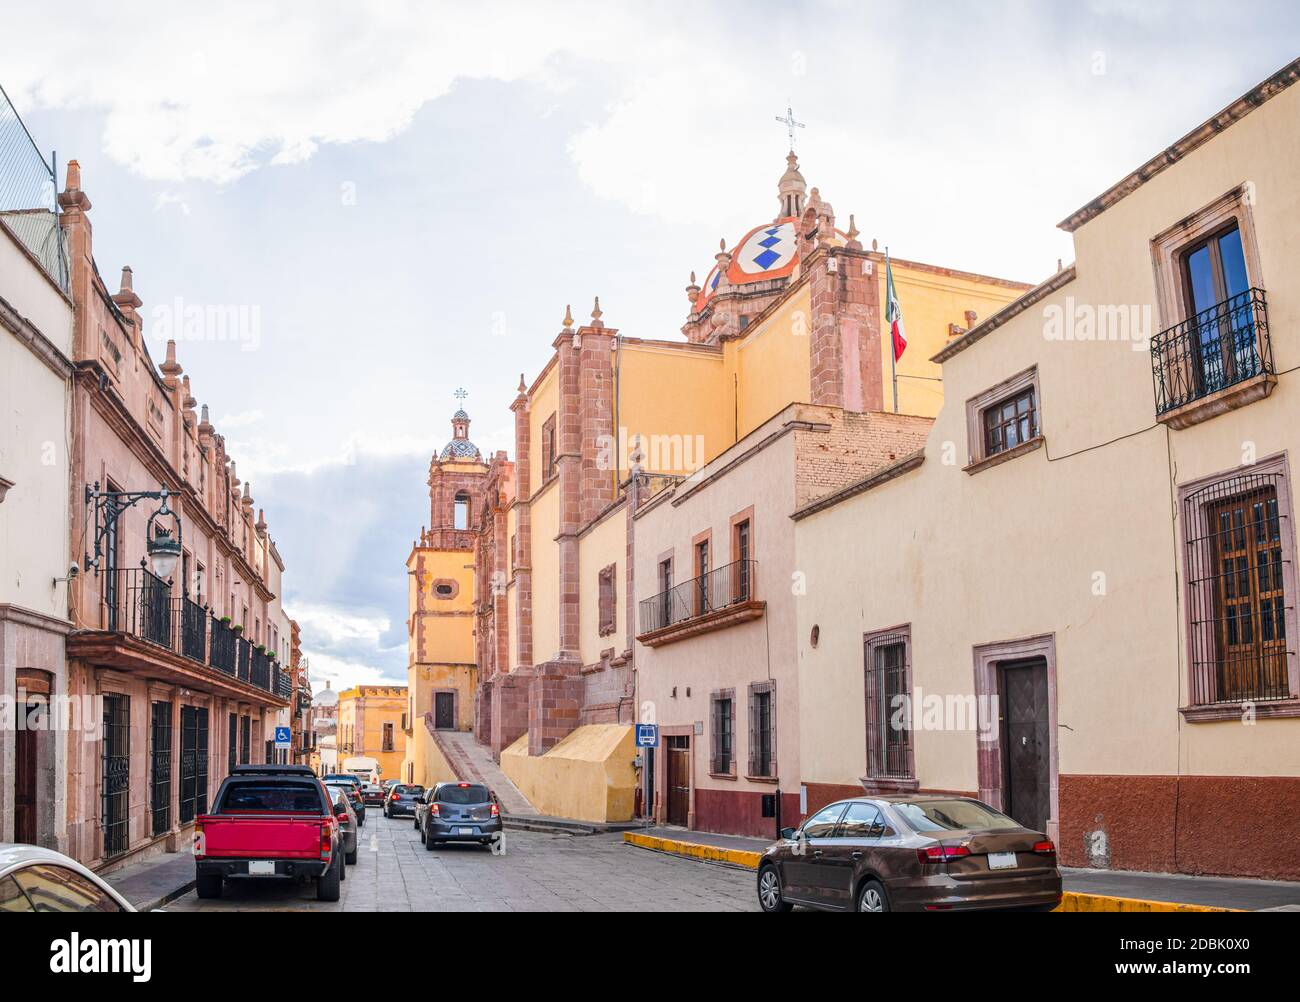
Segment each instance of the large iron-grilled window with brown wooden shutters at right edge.
[[1295,537],[1275,465],[1183,498],[1192,706],[1297,695],[1287,650]]

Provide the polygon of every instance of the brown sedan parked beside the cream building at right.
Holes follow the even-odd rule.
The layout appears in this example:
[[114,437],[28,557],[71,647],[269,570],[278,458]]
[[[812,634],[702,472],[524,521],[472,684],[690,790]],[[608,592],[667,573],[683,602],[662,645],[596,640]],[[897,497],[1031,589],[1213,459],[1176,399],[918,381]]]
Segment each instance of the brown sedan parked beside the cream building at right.
[[1050,911],[1056,846],[966,797],[861,797],[809,817],[763,853],[758,903],[829,911]]

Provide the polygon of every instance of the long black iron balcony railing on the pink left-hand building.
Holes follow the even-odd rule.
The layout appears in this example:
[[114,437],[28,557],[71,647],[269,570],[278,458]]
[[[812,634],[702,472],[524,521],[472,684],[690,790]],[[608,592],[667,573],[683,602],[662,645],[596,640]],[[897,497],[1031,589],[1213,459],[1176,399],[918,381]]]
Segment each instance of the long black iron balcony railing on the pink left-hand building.
[[148,568],[124,568],[101,574],[105,628],[205,664],[289,699],[292,685],[269,654],[222,623],[211,610],[188,598],[176,598],[172,584]]

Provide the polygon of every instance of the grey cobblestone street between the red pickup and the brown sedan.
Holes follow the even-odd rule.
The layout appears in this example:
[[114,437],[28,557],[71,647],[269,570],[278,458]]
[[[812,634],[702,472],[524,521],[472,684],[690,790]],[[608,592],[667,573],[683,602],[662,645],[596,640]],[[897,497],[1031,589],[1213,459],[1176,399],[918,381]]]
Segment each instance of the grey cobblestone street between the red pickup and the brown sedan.
[[217,901],[194,892],[168,911],[757,911],[754,876],[624,845],[621,836],[506,832],[506,854],[480,846],[429,853],[411,820],[369,811],[342,899],[306,881],[230,881]]

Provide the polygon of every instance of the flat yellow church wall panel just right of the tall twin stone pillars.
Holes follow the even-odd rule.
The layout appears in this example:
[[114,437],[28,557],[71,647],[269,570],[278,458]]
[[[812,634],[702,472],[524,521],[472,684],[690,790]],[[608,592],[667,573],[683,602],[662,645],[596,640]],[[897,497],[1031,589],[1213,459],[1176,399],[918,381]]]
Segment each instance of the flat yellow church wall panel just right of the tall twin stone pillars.
[[[624,342],[619,368],[619,426],[629,452],[642,437],[645,469],[686,474],[732,444],[732,389],[720,350]],[[627,455],[619,467],[627,476]]]

